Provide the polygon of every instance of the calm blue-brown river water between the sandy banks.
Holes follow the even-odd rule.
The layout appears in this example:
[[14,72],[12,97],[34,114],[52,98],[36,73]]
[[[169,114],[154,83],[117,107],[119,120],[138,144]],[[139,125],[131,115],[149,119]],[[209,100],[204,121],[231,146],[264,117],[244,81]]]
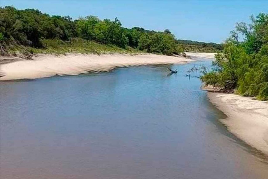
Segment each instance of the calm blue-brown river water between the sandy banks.
[[1,82],[1,179],[267,178],[192,66]]

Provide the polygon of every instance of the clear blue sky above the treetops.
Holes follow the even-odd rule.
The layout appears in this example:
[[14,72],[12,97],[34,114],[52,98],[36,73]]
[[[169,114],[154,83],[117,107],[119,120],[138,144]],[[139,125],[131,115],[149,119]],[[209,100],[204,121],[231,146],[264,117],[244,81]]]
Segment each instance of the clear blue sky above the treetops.
[[170,29],[177,39],[223,42],[236,22],[249,22],[250,15],[268,13],[268,1],[87,1],[0,0],[0,6],[35,8],[50,15],[118,17],[124,27]]

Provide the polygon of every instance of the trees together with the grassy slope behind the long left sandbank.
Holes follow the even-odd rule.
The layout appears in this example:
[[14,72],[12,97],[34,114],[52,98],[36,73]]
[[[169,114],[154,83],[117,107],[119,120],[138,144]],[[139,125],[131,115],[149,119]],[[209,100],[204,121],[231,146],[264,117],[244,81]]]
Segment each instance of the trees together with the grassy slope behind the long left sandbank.
[[[185,48],[168,30],[148,31],[122,27],[120,21],[87,16],[73,20],[70,16],[50,16],[39,10],[0,7],[1,55],[26,53],[105,53],[149,52],[165,55],[184,51],[213,51],[209,43]],[[187,44],[193,46],[193,44]],[[202,48],[201,48],[202,47]],[[209,48],[207,48],[209,47]]]

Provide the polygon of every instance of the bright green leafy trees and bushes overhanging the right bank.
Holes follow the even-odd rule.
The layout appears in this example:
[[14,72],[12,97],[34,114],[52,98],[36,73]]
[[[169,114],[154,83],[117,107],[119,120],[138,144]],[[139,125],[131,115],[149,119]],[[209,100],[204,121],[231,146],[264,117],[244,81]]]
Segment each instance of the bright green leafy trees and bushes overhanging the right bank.
[[250,24],[237,23],[213,67],[201,77],[205,84],[268,100],[268,14],[251,17]]

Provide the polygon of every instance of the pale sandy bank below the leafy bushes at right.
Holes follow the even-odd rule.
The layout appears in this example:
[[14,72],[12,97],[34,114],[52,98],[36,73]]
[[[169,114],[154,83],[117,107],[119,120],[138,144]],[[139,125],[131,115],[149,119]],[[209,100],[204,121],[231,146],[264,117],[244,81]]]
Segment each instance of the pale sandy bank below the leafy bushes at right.
[[210,101],[228,117],[228,130],[268,155],[268,102],[235,94],[208,92]]

